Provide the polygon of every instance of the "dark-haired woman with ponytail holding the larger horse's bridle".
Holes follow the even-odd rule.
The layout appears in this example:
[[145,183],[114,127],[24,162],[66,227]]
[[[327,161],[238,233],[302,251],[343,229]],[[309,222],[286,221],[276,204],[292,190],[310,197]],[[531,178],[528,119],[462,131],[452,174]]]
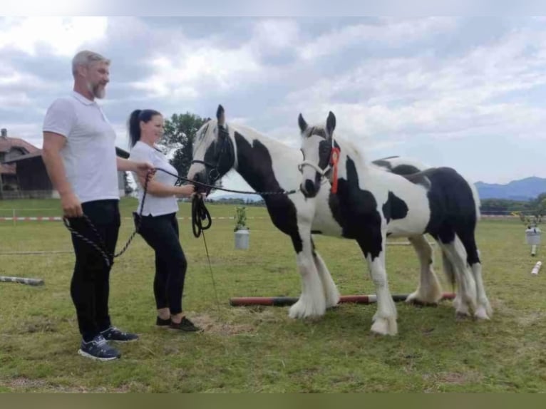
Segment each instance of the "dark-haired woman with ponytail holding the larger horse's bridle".
[[[148,161],[158,169],[148,182],[139,234],[155,251],[155,279],[153,290],[158,317],[155,324],[181,331],[199,331],[182,311],[182,292],[187,262],[178,237],[177,197],[189,197],[194,185],[175,186],[175,167],[155,143],[163,135],[163,116],[156,110],[135,110],[129,117],[131,160]],[[145,179],[138,177],[138,212],[143,201]],[[135,214],[135,224],[139,222]]]

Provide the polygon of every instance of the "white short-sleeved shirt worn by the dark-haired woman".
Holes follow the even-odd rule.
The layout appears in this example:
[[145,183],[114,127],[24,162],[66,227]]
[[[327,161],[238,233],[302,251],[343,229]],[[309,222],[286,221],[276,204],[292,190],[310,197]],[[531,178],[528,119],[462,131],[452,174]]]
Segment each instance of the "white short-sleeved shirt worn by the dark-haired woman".
[[[167,172],[178,175],[178,172],[175,167],[173,167],[167,157],[163,155],[160,150],[151,147],[147,143],[140,142],[140,140],[135,143],[133,149],[131,150],[130,160],[135,160],[137,162],[150,162],[153,167],[158,169],[155,172],[154,180],[163,183],[163,185],[174,186],[177,178],[171,175],[168,175],[165,172],[161,172],[159,169],[164,169]],[[135,180],[138,184],[138,207],[137,212],[140,212],[140,206],[142,205],[142,198],[144,195],[143,186],[140,185],[140,181],[136,175]],[[161,216],[162,214],[170,214],[178,211],[178,202],[176,197],[173,196],[154,196],[150,193],[146,193],[146,199],[144,200],[143,216]]]

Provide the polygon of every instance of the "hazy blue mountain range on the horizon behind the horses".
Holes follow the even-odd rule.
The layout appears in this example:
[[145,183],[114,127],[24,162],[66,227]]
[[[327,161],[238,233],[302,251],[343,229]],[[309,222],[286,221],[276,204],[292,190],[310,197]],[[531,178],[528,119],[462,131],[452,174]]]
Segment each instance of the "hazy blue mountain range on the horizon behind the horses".
[[[498,183],[476,182],[476,188],[480,199],[508,199],[508,200],[531,200],[535,199],[540,193],[546,192],[546,179],[542,177],[525,177],[520,180],[512,180],[505,185]],[[261,200],[259,195],[239,195],[237,193],[222,195],[217,192],[217,195],[211,197],[212,200],[230,200],[242,199],[245,201],[255,202]]]

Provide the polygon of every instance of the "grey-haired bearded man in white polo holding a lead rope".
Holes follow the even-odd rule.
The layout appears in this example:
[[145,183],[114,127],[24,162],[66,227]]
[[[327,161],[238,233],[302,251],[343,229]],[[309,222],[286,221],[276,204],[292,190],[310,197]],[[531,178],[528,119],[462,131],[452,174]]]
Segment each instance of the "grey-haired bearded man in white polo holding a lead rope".
[[[109,68],[110,60],[98,53],[81,51],[74,56],[73,92],[55,100],[46,113],[42,156],[71,227],[105,247],[107,254],[113,254],[120,227],[117,171],[133,171],[146,177],[153,167],[115,155],[115,131],[95,101],[105,95]],[[72,244],[76,266],[71,296],[83,338],[78,353],[101,361],[120,358],[107,341],[135,341],[138,336],[120,331],[110,322],[108,295],[113,260],[106,263],[100,252],[74,235]]]

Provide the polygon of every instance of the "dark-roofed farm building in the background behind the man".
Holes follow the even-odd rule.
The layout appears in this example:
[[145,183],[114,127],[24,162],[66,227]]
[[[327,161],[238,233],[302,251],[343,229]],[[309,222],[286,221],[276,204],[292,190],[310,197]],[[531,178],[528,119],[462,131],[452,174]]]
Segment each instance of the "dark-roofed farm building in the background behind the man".
[[[0,131],[0,200],[58,197],[43,164],[41,149],[7,134],[6,129]],[[115,152],[129,157],[129,152],[119,147],[115,147]],[[120,197],[125,196],[125,172],[118,172],[118,186]]]

